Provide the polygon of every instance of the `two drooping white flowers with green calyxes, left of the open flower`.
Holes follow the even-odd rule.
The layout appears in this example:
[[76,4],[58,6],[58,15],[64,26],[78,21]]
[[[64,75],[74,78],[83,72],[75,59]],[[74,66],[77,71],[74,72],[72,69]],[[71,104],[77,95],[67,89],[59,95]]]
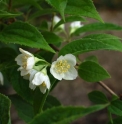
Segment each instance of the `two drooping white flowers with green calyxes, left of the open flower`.
[[15,58],[15,61],[20,66],[18,71],[21,72],[21,76],[25,79],[29,79],[29,87],[31,89],[34,90],[36,86],[38,86],[40,91],[45,93],[46,89],[49,90],[50,88],[50,80],[46,72],[46,67],[43,66],[43,69],[40,70],[34,69],[35,64],[42,60],[21,48],[19,50],[21,54]]

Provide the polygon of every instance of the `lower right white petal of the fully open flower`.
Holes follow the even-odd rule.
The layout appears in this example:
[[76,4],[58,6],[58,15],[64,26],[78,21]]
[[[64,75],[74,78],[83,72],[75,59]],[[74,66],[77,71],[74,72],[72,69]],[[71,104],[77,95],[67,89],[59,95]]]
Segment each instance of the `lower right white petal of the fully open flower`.
[[69,71],[64,74],[63,79],[74,80],[74,79],[76,79],[77,76],[78,76],[77,70],[73,66],[71,66]]

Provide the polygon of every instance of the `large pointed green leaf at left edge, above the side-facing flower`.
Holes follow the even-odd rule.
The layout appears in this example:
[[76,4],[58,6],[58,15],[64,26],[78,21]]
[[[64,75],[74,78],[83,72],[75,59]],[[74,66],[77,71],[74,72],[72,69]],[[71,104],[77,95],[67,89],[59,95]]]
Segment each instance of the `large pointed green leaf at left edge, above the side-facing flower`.
[[24,22],[15,22],[7,26],[0,32],[0,41],[4,43],[17,43],[33,48],[42,48],[54,52],[41,33],[34,26]]

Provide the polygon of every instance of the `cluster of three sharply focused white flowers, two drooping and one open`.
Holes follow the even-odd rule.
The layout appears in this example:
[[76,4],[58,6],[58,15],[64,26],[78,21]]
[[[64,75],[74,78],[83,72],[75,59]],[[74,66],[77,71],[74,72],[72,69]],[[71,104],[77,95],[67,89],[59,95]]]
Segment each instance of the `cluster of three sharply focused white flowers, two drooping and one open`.
[[[18,71],[21,72],[21,76],[24,79],[30,81],[29,87],[32,90],[38,86],[40,91],[44,94],[46,90],[50,89],[50,79],[47,75],[46,67],[48,65],[38,65],[37,62],[46,62],[45,60],[34,57],[33,54],[19,49],[21,54],[15,58],[15,61],[20,66]],[[50,68],[50,73],[58,80],[74,80],[78,76],[77,70],[75,69],[76,57],[72,54],[66,54],[60,56],[54,61]]]

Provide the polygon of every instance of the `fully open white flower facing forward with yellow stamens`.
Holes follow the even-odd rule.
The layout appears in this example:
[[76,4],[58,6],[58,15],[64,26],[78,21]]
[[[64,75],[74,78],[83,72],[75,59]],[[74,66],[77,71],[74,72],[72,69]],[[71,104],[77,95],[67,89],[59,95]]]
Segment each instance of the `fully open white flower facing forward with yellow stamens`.
[[76,65],[76,57],[72,54],[60,56],[57,61],[51,65],[50,72],[58,80],[74,80],[78,76]]

